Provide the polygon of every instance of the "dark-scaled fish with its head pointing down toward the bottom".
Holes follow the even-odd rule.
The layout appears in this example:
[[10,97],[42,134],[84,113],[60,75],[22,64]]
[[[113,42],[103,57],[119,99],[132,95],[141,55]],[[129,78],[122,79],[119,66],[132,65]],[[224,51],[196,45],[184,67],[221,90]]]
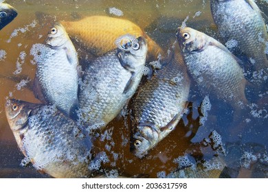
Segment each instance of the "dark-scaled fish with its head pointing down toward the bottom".
[[142,158],[172,130],[188,105],[190,78],[177,51],[163,69],[139,86],[131,104],[131,152]]

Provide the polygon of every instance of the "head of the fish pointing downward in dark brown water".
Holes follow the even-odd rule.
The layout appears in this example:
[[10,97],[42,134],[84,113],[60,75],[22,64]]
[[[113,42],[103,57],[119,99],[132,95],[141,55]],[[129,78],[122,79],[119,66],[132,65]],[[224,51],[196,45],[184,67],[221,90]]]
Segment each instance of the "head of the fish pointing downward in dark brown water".
[[137,126],[135,134],[131,141],[131,152],[142,158],[149,149],[153,148],[159,141],[159,132],[157,128],[150,125]]

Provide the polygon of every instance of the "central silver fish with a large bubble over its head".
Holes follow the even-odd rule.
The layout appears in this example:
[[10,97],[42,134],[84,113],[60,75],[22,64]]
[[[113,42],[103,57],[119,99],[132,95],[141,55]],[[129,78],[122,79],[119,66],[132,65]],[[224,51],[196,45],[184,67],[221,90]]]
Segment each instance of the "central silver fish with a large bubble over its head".
[[105,127],[120,113],[144,75],[146,39],[126,34],[115,43],[118,49],[94,60],[82,77],[78,121],[91,130]]

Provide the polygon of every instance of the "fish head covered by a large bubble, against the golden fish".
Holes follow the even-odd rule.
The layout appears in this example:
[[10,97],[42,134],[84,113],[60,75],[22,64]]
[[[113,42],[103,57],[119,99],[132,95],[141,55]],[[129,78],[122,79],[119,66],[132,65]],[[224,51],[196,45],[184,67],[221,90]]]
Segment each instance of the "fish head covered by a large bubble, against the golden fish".
[[120,61],[130,69],[144,66],[148,51],[146,39],[143,36],[135,38],[131,34],[120,36],[115,40],[118,47],[118,56]]

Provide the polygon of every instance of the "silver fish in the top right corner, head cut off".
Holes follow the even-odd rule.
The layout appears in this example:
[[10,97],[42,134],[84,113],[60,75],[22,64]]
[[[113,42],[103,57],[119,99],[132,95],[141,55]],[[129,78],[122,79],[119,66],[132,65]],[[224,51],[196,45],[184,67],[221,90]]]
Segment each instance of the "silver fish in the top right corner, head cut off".
[[235,40],[251,60],[253,70],[267,78],[268,35],[262,12],[254,0],[212,0],[211,12],[222,38]]

